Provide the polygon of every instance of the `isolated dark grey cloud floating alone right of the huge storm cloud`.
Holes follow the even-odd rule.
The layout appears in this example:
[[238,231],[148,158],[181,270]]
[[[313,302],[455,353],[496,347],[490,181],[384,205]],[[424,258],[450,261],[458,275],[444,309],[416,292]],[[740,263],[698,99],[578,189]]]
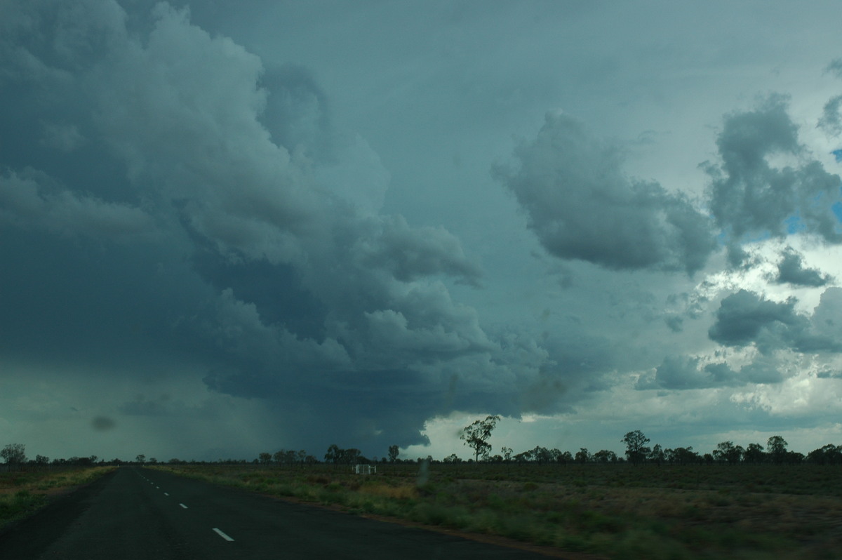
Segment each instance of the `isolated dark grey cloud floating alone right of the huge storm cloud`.
[[628,178],[619,147],[590,137],[567,115],[546,115],[520,165],[495,173],[514,192],[547,251],[608,269],[684,270],[705,264],[716,244],[708,218],[684,195]]

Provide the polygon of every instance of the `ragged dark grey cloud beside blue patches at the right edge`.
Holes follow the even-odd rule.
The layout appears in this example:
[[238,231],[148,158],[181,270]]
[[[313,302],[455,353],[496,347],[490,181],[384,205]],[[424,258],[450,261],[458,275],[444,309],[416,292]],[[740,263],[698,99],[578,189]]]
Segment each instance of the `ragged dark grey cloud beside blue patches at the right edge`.
[[[839,176],[810,159],[785,98],[772,96],[758,109],[727,115],[717,148],[722,163],[702,168],[711,177],[711,214],[731,243],[747,236],[786,236],[793,220],[797,230],[842,241],[832,210],[839,200]],[[775,167],[775,157],[796,163]]]

